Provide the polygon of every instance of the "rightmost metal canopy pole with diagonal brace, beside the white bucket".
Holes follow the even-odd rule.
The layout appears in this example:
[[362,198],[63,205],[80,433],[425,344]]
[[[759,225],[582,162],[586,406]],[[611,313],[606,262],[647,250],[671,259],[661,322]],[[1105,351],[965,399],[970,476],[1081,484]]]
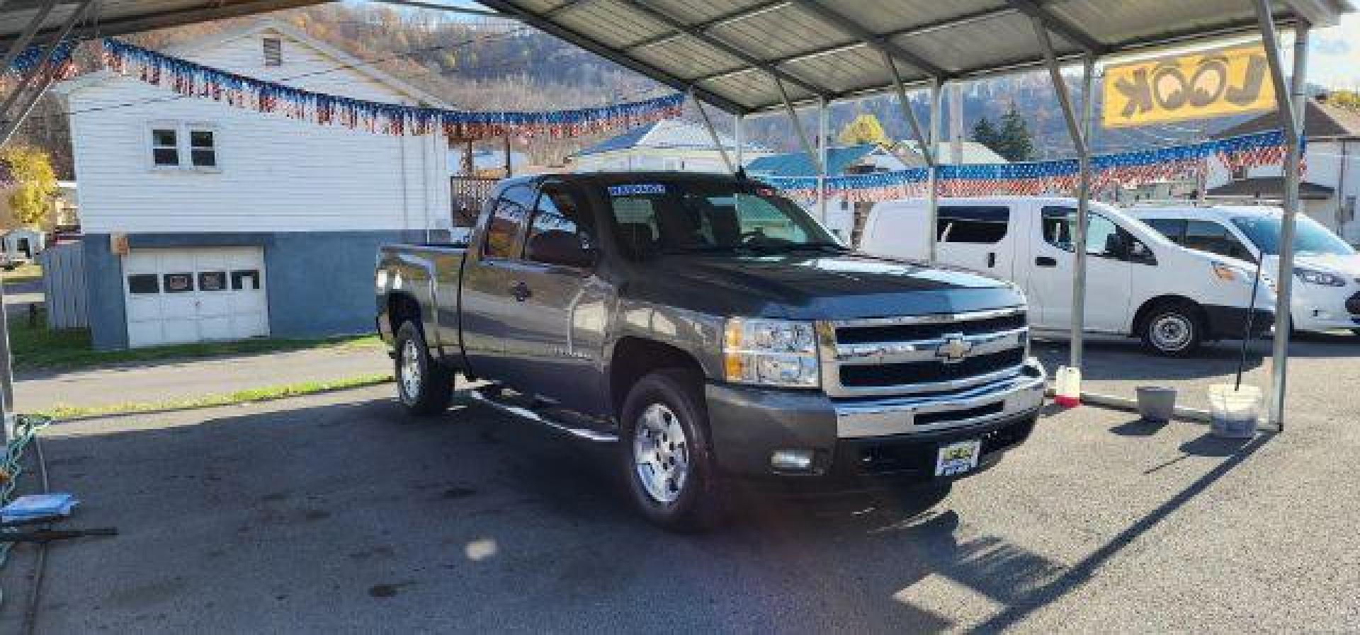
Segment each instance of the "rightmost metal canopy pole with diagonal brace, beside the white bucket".
[[[1303,113],[1307,107],[1304,80],[1308,64],[1308,23],[1302,18],[1295,27],[1293,78],[1285,86],[1284,61],[1280,58],[1280,38],[1274,19],[1270,15],[1270,1],[1257,0],[1257,20],[1261,23],[1261,39],[1270,65],[1270,80],[1276,88],[1276,105],[1284,120],[1284,137],[1288,147],[1284,156],[1284,218],[1280,223],[1280,271],[1276,284],[1276,332],[1270,363],[1269,417],[1276,430],[1284,431],[1285,379],[1289,362],[1289,307],[1293,298],[1293,234],[1295,218],[1299,213],[1299,162],[1303,141]],[[1254,309],[1254,307],[1253,307]]]

